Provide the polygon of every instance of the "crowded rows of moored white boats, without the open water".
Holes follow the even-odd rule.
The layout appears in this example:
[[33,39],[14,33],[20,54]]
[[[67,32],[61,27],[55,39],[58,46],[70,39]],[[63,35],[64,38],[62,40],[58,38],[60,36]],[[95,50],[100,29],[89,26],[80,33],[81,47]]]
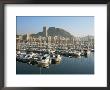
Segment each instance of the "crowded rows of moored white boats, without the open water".
[[41,50],[41,51],[17,51],[16,52],[16,60],[26,63],[51,63],[52,61],[60,61],[62,56],[70,57],[70,58],[78,58],[81,56],[87,57],[92,50],[80,50],[80,51],[51,51],[51,50]]

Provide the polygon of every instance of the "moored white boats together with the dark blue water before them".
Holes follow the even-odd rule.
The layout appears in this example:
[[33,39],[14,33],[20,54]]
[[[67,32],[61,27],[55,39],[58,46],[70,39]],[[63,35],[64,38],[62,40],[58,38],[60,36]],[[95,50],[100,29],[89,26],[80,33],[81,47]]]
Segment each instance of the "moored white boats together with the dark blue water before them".
[[27,54],[26,52],[20,53],[20,51],[18,51],[16,56],[16,73],[94,74],[94,52],[91,51],[88,54],[80,52],[80,55],[79,53],[76,55],[77,53],[72,56],[72,52],[63,52],[63,54],[61,52],[28,52]]

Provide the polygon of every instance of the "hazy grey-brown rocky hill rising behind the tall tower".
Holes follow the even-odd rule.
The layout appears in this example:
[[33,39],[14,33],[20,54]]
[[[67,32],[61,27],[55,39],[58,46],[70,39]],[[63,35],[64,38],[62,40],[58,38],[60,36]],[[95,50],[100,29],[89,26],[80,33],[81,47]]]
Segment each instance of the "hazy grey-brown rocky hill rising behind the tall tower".
[[[62,37],[72,37],[72,35],[62,28],[49,27],[47,30],[48,36],[62,36]],[[32,34],[34,37],[45,36],[43,32],[38,32],[37,34]]]

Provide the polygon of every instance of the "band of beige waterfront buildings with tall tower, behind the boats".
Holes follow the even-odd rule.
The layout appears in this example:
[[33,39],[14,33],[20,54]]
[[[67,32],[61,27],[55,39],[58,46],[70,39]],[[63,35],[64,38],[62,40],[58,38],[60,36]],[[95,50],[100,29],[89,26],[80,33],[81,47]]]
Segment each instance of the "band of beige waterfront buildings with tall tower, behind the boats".
[[24,39],[23,35],[17,35],[16,47],[17,49],[28,49],[36,47],[53,47],[53,48],[68,48],[68,49],[83,49],[84,47],[94,48],[94,37],[63,37],[63,36],[49,36],[49,29],[54,30],[55,27],[43,27],[43,35],[39,37],[32,36],[27,33]]

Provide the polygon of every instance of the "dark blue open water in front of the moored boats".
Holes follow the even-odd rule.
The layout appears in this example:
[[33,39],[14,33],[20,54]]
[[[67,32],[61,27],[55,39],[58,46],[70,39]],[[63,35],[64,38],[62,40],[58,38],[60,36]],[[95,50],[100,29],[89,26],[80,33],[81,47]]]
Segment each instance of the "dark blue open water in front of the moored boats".
[[94,74],[94,53],[87,57],[81,56],[78,58],[62,56],[60,62],[52,63],[48,68],[17,61],[16,74]]

